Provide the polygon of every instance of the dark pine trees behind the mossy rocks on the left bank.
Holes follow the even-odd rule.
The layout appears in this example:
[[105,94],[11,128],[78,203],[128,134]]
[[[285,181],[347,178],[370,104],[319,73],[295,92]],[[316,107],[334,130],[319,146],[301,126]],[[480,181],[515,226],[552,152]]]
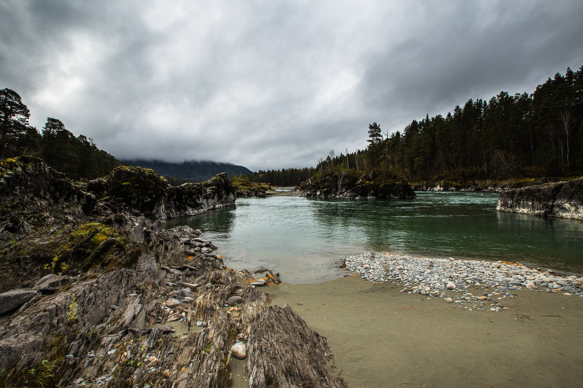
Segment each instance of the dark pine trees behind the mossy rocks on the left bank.
[[30,111],[18,93],[0,90],[0,159],[21,155],[43,158],[68,178],[83,180],[108,175],[120,161],[97,148],[93,139],[73,133],[59,120],[47,117],[42,133],[29,125]]

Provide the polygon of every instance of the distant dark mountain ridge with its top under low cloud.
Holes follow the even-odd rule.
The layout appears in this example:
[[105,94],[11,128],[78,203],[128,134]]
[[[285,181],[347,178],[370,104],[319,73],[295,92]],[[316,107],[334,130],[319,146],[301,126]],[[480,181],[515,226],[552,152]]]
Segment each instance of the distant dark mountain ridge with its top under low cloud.
[[122,160],[122,163],[137,167],[151,168],[152,170],[157,171],[160,175],[167,177],[189,178],[196,179],[197,181],[205,181],[221,172],[226,172],[229,176],[231,174],[239,176],[241,174],[248,175],[252,173],[251,170],[242,165],[217,163],[213,161],[190,160],[182,163],[170,163],[160,160],[133,159]]

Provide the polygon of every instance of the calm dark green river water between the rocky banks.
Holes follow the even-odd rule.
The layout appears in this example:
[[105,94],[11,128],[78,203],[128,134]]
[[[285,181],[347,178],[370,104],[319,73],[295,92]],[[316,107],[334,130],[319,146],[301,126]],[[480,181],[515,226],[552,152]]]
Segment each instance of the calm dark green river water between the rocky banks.
[[203,231],[227,266],[265,266],[290,283],[342,274],[365,251],[505,260],[583,274],[583,222],[496,211],[497,193],[419,192],[412,200],[237,199],[171,220]]

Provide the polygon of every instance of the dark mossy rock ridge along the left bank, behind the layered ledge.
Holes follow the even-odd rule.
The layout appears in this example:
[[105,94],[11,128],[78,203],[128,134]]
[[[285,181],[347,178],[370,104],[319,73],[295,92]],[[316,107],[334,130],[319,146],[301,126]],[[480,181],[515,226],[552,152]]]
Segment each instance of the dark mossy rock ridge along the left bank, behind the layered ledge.
[[8,220],[3,227],[10,232],[29,232],[23,217],[39,214],[60,218],[137,210],[150,220],[166,220],[235,202],[225,173],[200,184],[174,187],[153,170],[118,167],[107,178],[73,185],[40,158],[22,156],[0,162],[0,174],[0,217]]

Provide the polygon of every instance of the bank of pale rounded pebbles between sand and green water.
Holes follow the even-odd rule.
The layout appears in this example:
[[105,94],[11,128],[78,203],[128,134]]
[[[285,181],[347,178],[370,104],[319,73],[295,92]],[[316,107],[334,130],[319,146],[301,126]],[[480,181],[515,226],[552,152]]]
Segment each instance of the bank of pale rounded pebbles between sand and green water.
[[[345,267],[364,280],[402,284],[401,292],[443,298],[469,311],[498,312],[507,309],[500,299],[515,298],[517,295],[513,292],[523,288],[583,297],[583,277],[561,277],[552,270],[530,268],[518,263],[365,252],[346,258]],[[468,292],[468,288],[472,288],[473,292]],[[479,295],[476,289],[490,292]]]

